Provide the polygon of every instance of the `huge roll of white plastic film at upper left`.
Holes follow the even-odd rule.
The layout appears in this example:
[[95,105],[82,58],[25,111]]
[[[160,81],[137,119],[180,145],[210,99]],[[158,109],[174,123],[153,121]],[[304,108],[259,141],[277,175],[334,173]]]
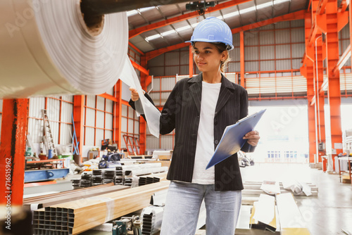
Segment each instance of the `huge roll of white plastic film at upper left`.
[[92,34],[80,0],[1,0],[0,9],[0,98],[102,94],[117,82],[128,46],[125,12],[104,15]]

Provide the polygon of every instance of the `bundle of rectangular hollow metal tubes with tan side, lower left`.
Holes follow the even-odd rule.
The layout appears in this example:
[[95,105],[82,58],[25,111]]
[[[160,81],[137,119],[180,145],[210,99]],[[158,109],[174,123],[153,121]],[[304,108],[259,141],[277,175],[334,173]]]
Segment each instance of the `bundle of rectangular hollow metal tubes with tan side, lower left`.
[[34,234],[79,234],[104,222],[146,208],[151,195],[168,189],[169,182],[105,193],[34,211]]

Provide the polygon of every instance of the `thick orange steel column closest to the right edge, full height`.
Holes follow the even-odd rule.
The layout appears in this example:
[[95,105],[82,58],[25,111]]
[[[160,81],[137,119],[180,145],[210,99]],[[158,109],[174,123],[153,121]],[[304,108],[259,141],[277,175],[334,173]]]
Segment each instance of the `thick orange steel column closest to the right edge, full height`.
[[[333,72],[334,66],[339,61],[339,30],[337,17],[337,0],[330,0],[326,7],[327,15],[327,76],[329,89],[327,92],[330,107],[332,159],[342,152],[341,132],[341,91],[339,71]],[[334,161],[333,161],[334,163]]]

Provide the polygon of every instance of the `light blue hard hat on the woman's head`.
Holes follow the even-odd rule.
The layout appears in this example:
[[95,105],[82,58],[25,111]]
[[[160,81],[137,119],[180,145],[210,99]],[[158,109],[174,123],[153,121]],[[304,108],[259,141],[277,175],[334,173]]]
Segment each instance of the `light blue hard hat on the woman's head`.
[[194,29],[191,40],[187,42],[222,42],[227,45],[227,50],[234,49],[229,25],[213,16],[201,21]]

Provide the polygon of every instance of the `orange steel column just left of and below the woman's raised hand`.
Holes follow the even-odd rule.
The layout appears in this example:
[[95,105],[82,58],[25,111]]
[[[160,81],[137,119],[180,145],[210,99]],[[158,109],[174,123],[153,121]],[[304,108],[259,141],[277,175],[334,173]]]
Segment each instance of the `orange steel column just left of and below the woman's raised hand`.
[[118,99],[113,105],[113,142],[121,149],[121,115],[122,115],[122,82],[118,80],[113,87],[113,96]]

